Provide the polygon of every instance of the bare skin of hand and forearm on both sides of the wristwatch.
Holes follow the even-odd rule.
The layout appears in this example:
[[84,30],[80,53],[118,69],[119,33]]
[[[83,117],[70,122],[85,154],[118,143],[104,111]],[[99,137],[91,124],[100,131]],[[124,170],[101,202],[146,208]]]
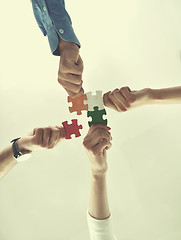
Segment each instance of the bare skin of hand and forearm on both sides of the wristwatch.
[[[27,136],[18,141],[20,152],[26,154],[38,149],[52,149],[65,138],[62,127],[35,128]],[[12,145],[0,152],[0,179],[4,177],[18,162],[13,157]]]

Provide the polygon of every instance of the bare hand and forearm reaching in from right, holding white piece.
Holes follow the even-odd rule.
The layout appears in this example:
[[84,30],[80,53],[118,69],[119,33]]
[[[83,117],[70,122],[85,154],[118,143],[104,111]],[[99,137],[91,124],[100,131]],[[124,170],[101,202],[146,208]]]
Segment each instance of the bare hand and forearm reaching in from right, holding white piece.
[[129,87],[116,88],[103,96],[104,105],[117,112],[125,112],[148,104],[180,104],[181,87],[131,91]]

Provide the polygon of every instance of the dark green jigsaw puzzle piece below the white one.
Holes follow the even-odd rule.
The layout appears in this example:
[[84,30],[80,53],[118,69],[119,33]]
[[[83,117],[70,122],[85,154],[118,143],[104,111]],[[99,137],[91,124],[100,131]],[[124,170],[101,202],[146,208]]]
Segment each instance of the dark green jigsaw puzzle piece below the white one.
[[107,125],[107,119],[104,120],[102,118],[103,115],[106,115],[106,110],[105,109],[98,110],[97,106],[94,107],[94,111],[88,111],[87,112],[87,117],[92,117],[92,122],[90,122],[90,121],[88,122],[89,127],[92,124],[98,124],[98,123],[102,123],[102,124]]

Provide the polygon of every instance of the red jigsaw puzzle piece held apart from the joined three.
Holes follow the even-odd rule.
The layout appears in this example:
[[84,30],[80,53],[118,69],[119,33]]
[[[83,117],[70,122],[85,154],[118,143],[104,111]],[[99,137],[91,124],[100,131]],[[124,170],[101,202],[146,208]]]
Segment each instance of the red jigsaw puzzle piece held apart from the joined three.
[[62,125],[65,128],[66,131],[66,139],[71,139],[71,135],[75,134],[75,137],[80,137],[81,134],[79,132],[79,129],[82,129],[82,125],[77,124],[77,119],[72,119],[72,123],[68,124],[67,121],[63,122]]

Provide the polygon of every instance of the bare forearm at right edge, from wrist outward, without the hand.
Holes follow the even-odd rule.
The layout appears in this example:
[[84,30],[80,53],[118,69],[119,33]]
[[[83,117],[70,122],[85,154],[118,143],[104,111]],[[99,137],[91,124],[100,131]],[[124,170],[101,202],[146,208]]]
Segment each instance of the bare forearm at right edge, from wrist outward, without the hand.
[[151,89],[153,104],[181,103],[181,87]]

